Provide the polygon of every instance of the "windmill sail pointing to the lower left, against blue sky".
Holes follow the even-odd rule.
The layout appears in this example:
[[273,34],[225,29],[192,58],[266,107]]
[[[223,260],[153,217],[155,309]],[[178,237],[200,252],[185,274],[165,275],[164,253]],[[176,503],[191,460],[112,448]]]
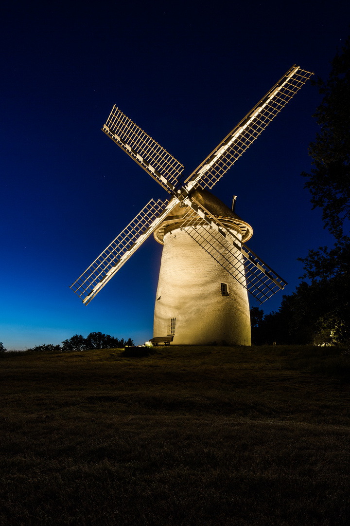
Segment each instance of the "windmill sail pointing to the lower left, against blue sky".
[[82,299],[83,304],[87,305],[97,295],[177,204],[177,199],[165,203],[161,199],[151,199],[147,203],[140,214],[70,286]]

